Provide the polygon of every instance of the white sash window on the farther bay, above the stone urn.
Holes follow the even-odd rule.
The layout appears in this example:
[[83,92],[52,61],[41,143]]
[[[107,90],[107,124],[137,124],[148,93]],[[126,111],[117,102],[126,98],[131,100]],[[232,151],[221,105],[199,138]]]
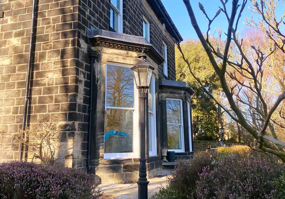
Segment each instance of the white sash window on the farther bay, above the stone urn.
[[182,100],[166,99],[168,151],[185,152]]

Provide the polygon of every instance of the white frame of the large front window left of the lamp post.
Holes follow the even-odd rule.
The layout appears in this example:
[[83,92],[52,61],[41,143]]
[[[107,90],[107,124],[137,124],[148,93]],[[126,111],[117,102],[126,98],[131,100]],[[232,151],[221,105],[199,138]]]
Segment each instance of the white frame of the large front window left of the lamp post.
[[[125,107],[110,107],[107,105],[107,66],[118,66],[118,67],[127,67],[131,68],[133,66],[126,64],[118,64],[107,62],[105,65],[105,111],[106,109],[127,109],[133,110],[133,152],[132,153],[105,153],[105,142],[104,142],[104,159],[125,159],[125,158],[138,158],[139,157],[139,93],[134,80],[134,107],[133,108],[125,108]],[[105,121],[105,117],[104,117]],[[104,122],[105,125],[105,122]],[[105,127],[104,127],[104,136],[105,136]]]

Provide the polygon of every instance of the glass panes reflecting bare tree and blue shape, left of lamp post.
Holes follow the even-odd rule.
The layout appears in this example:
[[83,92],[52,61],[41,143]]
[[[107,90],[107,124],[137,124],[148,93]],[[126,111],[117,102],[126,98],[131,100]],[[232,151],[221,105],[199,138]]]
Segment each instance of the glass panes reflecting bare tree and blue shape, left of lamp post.
[[134,78],[131,69],[107,66],[105,112],[105,153],[127,153],[133,150]]

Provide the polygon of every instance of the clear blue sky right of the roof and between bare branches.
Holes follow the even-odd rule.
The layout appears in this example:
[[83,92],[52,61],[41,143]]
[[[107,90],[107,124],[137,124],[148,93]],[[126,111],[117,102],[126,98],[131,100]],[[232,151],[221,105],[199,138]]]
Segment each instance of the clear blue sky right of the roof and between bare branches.
[[[172,21],[176,25],[178,31],[180,32],[181,36],[185,40],[186,38],[189,39],[198,39],[195,30],[192,27],[192,24],[190,22],[189,15],[187,13],[186,7],[182,0],[161,0],[164,7],[166,8],[168,14],[172,18]],[[192,9],[194,10],[194,14],[196,16],[196,20],[200,26],[200,29],[203,32],[207,31],[208,28],[208,20],[205,18],[205,15],[202,13],[202,11],[199,9],[198,2],[202,3],[204,6],[204,9],[209,16],[209,18],[213,18],[215,16],[215,13],[218,11],[219,6],[221,5],[220,0],[190,0],[190,3],[192,5]],[[259,1],[258,1],[259,2]],[[242,3],[242,0],[240,0],[240,3]],[[238,30],[240,32],[243,32],[244,29],[249,28],[249,26],[243,24],[245,22],[245,17],[251,18],[251,16],[254,14],[251,12],[248,7],[251,6],[251,1],[247,2],[247,6],[245,7],[243,14],[241,16],[241,20],[239,22]],[[280,1],[278,4],[278,7],[276,8],[276,16],[282,16],[284,13],[284,2]],[[228,12],[231,11],[231,0],[227,3],[227,10]],[[253,15],[255,20],[258,20],[259,15],[254,14]],[[219,16],[214,20],[214,22],[211,25],[210,32],[213,32],[215,28],[223,28],[223,32],[227,31],[227,20],[225,18],[225,14],[221,12]],[[225,34],[224,38],[225,38]]]

